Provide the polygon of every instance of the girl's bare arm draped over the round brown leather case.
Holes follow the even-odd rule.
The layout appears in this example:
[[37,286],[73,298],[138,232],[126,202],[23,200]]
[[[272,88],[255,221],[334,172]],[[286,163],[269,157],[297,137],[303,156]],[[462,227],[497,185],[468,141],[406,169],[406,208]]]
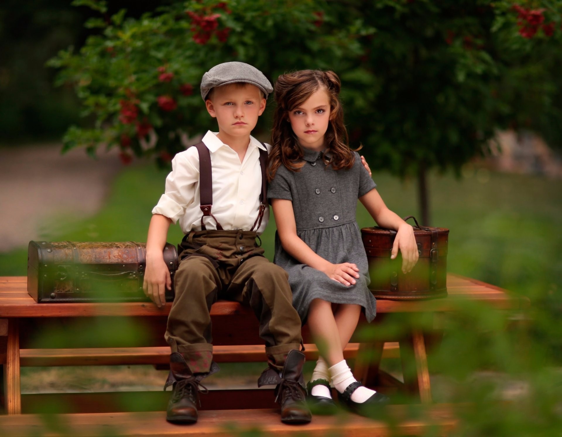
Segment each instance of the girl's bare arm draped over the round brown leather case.
[[414,228],[387,208],[376,189],[372,189],[367,194],[362,195],[359,200],[380,227],[396,231],[391,260],[396,258],[398,249],[400,249],[402,253],[402,272],[407,273],[411,271],[416,262],[418,262],[418,245],[414,236]]

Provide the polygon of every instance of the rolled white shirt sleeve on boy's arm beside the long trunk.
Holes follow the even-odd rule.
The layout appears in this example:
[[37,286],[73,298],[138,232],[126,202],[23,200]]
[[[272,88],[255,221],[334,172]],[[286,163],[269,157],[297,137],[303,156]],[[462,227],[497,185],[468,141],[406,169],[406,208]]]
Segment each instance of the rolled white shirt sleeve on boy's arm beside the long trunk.
[[195,147],[176,154],[172,160],[172,171],[166,177],[166,190],[162,194],[153,214],[169,217],[174,224],[185,213],[185,207],[195,198],[199,180],[199,156]]

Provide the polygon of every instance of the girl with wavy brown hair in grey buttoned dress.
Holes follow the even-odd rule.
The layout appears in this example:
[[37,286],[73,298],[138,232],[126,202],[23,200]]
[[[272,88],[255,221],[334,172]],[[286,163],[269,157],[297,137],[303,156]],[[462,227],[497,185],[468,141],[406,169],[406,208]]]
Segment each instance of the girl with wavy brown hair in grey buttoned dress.
[[380,226],[397,231],[391,258],[400,249],[405,273],[418,248],[413,227],[388,210],[347,144],[340,87],[332,71],[279,76],[268,198],[277,222],[274,262],[287,271],[293,306],[321,352],[307,386],[311,406],[333,409],[331,380],[340,401],[359,412],[388,398],[356,381],[343,359],[361,310],[369,322],[375,317],[357,198]]

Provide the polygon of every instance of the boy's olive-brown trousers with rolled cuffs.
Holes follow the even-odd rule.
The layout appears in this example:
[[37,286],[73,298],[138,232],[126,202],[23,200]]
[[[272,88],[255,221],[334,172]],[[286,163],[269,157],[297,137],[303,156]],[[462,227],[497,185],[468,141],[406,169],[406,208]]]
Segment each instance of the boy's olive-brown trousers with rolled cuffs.
[[165,334],[172,352],[183,354],[193,373],[209,372],[210,309],[225,299],[253,309],[269,365],[282,370],[289,350],[300,348],[301,320],[292,305],[287,272],[264,258],[256,233],[192,231],[178,249],[175,298]]

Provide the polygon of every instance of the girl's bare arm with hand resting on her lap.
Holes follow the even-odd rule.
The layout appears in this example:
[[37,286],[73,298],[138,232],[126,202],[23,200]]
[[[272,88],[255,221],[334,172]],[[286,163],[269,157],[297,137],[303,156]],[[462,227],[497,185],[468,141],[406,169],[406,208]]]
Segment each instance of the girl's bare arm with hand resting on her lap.
[[[330,279],[343,285],[355,284],[359,278],[359,268],[355,264],[344,262],[332,264],[312,251],[297,235],[297,225],[294,221],[293,202],[285,199],[271,199],[275,223],[283,249],[295,260],[316,270],[324,272]],[[417,252],[416,252],[417,253]]]

